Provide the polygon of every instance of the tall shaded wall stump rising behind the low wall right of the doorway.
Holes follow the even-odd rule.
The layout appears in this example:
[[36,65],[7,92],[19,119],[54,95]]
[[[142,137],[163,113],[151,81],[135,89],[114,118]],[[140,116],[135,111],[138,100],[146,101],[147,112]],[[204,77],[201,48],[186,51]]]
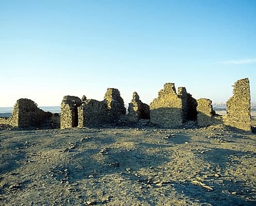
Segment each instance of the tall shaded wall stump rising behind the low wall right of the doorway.
[[126,114],[124,100],[118,89],[108,88],[104,100],[107,104],[110,122],[116,122],[122,115]]

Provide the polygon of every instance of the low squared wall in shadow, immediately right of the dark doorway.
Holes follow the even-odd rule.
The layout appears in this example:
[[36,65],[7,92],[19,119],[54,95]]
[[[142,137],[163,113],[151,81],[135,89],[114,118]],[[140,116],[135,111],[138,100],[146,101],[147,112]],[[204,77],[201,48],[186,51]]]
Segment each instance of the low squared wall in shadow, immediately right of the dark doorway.
[[78,107],[78,127],[100,127],[109,123],[108,108],[105,101],[85,100]]

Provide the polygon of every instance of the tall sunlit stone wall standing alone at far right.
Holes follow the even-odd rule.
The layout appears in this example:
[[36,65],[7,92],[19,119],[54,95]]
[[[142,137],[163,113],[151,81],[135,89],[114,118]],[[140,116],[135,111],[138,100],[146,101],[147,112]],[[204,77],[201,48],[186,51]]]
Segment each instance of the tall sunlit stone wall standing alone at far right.
[[239,79],[233,85],[233,96],[227,101],[227,115],[223,115],[224,124],[250,131],[250,101],[249,79]]

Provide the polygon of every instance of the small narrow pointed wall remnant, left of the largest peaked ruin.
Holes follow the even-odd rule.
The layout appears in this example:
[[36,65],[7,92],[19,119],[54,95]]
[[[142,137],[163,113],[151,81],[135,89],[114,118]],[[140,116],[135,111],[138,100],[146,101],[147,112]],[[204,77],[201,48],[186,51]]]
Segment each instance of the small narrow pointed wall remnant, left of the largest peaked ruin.
[[137,92],[133,92],[129,103],[128,119],[132,123],[137,123],[139,119],[149,119],[149,106],[140,100]]

